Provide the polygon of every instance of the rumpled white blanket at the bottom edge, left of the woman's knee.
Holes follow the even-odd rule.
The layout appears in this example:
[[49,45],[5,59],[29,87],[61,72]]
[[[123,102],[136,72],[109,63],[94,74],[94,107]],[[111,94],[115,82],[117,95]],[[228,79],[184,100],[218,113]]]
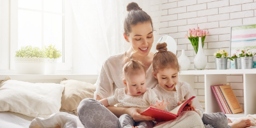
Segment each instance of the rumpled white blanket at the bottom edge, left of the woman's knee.
[[60,112],[52,114],[49,118],[36,117],[29,128],[83,128],[83,125],[75,115]]

